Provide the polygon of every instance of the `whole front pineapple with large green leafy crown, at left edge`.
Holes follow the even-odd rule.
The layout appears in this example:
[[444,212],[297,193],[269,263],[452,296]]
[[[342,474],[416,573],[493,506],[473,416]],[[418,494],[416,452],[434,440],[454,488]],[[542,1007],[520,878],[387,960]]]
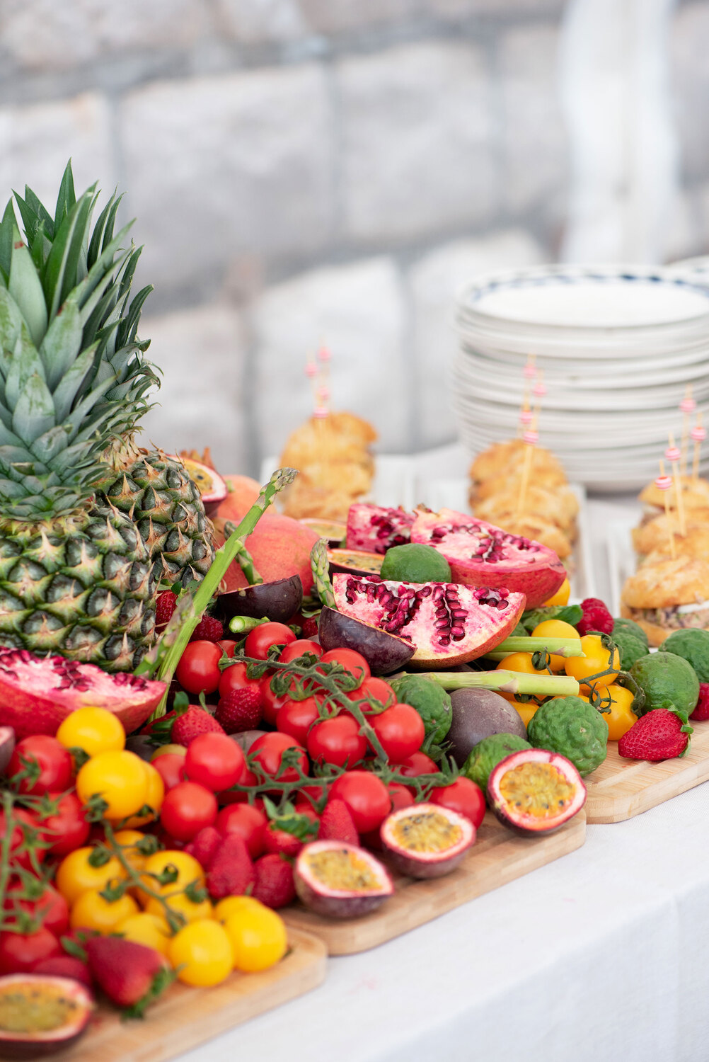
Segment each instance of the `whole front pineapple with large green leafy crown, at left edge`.
[[[121,314],[136,253],[109,210],[89,242],[93,203],[65,181],[51,217],[27,193],[29,246],[12,202],[0,223],[0,645],[127,671],[154,640],[155,578],[133,520],[94,495],[126,417],[119,374],[100,369],[111,338],[135,346]],[[146,367],[127,390],[151,382]]]

